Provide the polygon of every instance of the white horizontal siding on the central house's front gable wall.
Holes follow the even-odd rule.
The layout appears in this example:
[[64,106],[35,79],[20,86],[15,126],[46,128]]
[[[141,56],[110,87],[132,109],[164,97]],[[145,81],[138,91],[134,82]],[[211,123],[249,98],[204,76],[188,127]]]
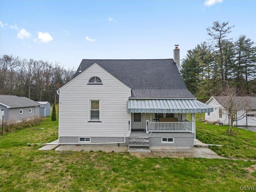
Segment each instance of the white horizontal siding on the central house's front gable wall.
[[[93,76],[99,77],[104,84],[88,84]],[[60,88],[59,137],[129,136],[130,114],[126,110],[130,94],[127,87],[98,66],[84,71]],[[90,100],[100,100],[101,122],[88,122]]]

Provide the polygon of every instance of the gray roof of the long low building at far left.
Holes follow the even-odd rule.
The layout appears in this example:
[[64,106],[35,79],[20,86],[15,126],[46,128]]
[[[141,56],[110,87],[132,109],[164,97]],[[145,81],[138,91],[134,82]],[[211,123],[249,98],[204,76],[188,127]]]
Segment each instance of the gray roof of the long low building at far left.
[[7,108],[18,108],[18,107],[32,107],[39,106],[38,102],[35,102],[26,97],[18,97],[15,95],[0,95],[0,104]]

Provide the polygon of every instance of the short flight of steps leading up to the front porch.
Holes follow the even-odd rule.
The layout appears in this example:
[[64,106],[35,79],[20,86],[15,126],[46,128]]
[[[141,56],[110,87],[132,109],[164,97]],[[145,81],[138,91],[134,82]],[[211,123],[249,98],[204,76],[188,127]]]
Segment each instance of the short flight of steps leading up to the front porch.
[[148,137],[129,137],[128,152],[150,153]]

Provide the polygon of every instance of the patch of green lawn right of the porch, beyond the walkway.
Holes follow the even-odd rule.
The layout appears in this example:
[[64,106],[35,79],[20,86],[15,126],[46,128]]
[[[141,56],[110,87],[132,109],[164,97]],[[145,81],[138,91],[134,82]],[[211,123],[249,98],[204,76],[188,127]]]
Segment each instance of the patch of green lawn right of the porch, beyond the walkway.
[[256,160],[256,132],[233,127],[237,135],[226,133],[229,126],[217,126],[196,121],[196,138],[206,144],[219,144],[209,148],[227,158]]

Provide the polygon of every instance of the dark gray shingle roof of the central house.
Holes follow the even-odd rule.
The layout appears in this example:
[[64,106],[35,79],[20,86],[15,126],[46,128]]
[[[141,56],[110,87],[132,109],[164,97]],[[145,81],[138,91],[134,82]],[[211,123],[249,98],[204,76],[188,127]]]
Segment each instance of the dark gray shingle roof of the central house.
[[132,98],[195,98],[188,91],[173,59],[83,59],[75,76],[97,63],[132,89]]

